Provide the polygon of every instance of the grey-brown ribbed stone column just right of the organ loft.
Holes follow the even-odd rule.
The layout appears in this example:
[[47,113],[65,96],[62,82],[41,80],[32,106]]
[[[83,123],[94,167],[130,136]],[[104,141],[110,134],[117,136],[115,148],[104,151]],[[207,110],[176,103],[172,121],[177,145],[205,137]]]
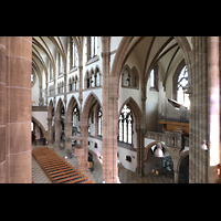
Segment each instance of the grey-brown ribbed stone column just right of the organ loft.
[[206,167],[204,156],[201,151],[202,140],[209,144],[211,131],[208,129],[210,124],[210,97],[208,96],[210,76],[208,73],[207,36],[192,38],[192,73],[190,73],[190,137],[189,137],[189,182],[207,182],[208,168]]

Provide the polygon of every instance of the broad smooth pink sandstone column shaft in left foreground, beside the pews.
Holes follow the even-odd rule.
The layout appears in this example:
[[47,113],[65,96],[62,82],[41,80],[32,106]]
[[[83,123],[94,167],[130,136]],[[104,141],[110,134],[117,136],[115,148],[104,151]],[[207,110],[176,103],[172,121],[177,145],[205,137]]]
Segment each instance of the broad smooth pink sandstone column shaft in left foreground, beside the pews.
[[7,38],[7,182],[32,181],[32,38]]

